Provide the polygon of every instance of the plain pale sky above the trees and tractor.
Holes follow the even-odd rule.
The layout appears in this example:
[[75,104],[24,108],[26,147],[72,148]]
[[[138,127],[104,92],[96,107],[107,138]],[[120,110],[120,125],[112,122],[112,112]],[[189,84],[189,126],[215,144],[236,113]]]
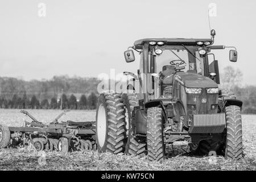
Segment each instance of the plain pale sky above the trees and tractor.
[[238,50],[237,63],[229,61],[228,49],[214,51],[220,71],[232,65],[242,71],[243,84],[256,85],[255,0],[0,0],[0,76],[40,80],[97,77],[110,69],[136,73],[138,55],[129,64],[123,56],[135,40],[210,38],[210,3],[217,10],[210,17],[215,45]]

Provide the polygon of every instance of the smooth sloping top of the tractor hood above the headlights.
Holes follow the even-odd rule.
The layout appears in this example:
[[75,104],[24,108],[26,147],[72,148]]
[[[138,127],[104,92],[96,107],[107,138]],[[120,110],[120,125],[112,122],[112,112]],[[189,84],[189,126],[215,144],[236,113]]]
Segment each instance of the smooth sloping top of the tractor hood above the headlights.
[[184,83],[188,88],[217,88],[218,85],[212,79],[198,75],[196,73],[177,72],[175,75],[177,81]]

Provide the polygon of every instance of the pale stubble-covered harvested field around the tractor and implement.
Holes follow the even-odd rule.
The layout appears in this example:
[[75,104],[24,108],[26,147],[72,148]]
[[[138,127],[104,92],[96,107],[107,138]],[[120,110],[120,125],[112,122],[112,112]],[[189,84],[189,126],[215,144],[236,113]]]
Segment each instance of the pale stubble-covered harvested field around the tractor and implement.
[[[59,110],[28,110],[43,121],[51,122]],[[96,111],[74,110],[61,120],[94,121]],[[0,123],[22,126],[28,117],[19,110],[0,110]],[[123,154],[98,154],[97,151],[36,152],[32,148],[0,149],[0,170],[256,170],[256,115],[242,115],[244,159],[225,160],[222,156],[195,157],[189,154],[186,143],[167,146],[168,159],[163,163]]]

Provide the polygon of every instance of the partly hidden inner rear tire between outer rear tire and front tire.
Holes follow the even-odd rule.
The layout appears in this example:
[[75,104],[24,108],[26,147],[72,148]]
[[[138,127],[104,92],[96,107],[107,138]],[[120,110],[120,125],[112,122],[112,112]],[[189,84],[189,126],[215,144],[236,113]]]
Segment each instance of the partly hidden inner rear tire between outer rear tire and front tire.
[[132,124],[132,111],[135,106],[139,105],[138,97],[133,90],[122,94],[123,105],[125,106],[126,126],[127,126],[127,143],[125,153],[129,155],[143,155],[146,151],[146,142],[139,140],[134,136]]

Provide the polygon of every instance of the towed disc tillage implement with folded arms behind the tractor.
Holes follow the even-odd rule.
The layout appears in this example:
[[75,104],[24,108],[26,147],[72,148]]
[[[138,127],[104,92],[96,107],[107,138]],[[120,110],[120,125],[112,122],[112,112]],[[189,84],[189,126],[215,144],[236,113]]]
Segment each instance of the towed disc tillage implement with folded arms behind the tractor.
[[44,124],[26,110],[20,112],[32,119],[24,120],[22,127],[8,127],[0,124],[0,148],[25,147],[32,145],[36,151],[96,150],[95,122],[59,122],[68,112],[64,110],[49,124]]

